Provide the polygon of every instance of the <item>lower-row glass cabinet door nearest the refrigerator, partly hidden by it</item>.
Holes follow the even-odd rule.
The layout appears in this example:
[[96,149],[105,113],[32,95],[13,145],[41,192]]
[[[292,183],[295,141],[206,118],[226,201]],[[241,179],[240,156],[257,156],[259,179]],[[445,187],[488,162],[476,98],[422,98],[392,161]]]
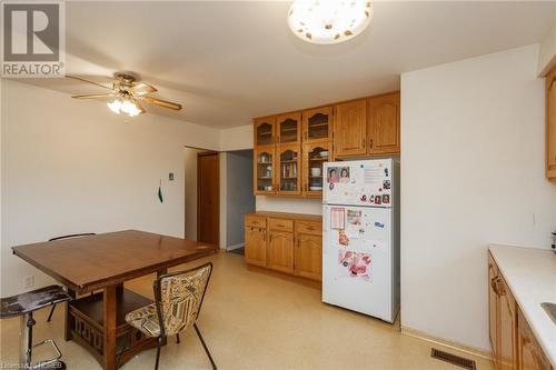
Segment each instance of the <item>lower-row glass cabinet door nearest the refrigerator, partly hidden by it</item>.
[[330,149],[329,141],[304,146],[304,196],[322,197],[325,186],[322,164],[332,160]]

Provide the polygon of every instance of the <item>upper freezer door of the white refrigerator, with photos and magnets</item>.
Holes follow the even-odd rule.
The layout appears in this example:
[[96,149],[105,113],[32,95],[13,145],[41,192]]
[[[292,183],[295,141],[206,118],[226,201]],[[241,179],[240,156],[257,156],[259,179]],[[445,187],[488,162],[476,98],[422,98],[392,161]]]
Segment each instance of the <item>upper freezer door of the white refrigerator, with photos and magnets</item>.
[[391,207],[393,160],[325,163],[326,204]]

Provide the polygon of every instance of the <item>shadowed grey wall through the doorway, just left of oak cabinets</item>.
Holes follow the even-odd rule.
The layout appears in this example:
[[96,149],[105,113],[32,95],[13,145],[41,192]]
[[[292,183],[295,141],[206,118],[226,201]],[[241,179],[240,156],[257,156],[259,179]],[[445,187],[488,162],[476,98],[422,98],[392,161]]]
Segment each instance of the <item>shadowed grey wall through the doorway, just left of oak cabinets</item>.
[[255,211],[252,150],[226,153],[226,249],[244,244],[244,214]]

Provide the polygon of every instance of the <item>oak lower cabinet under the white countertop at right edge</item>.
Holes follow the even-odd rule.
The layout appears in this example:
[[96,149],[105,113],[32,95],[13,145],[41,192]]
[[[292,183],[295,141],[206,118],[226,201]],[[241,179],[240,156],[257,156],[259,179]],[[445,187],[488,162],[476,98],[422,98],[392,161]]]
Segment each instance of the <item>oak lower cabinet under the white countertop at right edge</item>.
[[489,337],[496,370],[550,370],[493,257],[488,256]]

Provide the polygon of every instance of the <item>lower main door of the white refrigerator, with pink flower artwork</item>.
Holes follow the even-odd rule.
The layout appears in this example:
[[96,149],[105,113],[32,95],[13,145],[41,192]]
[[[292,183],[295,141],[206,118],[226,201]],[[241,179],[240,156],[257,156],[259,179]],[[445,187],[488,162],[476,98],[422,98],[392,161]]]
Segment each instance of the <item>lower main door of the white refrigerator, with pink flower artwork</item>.
[[322,301],[391,322],[391,210],[322,211]]

